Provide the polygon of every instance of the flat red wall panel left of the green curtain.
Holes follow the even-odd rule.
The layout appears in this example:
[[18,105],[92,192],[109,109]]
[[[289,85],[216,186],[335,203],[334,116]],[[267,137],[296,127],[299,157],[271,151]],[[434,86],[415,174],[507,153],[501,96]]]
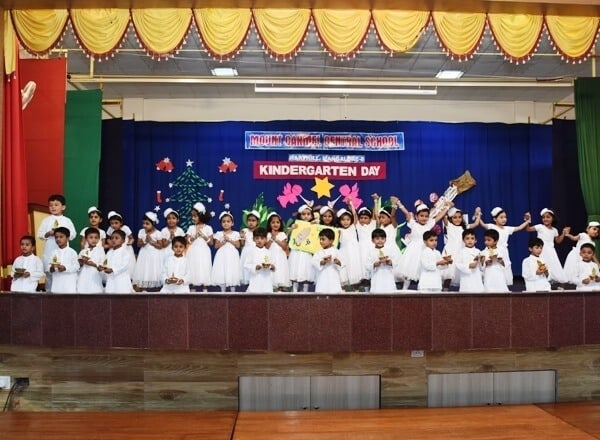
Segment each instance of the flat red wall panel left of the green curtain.
[[19,70],[21,88],[37,84],[23,112],[29,202],[46,205],[63,193],[67,60],[19,60]]

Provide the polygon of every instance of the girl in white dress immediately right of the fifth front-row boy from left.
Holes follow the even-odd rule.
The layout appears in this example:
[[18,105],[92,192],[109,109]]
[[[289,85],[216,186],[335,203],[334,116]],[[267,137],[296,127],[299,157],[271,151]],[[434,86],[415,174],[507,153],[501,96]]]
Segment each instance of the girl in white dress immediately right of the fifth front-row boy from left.
[[190,284],[198,286],[204,292],[211,283],[212,257],[209,246],[213,243],[213,230],[207,223],[210,214],[206,207],[197,202],[191,211],[192,225],[187,230],[186,237],[190,243],[187,251],[188,275]]

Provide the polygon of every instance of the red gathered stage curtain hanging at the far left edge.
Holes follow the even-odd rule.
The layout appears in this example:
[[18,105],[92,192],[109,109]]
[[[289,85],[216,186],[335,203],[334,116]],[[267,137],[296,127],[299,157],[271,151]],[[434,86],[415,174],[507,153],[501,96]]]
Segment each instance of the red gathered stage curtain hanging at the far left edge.
[[[21,88],[19,69],[10,78],[4,78],[4,126],[2,143],[2,189],[0,223],[2,269],[21,254],[19,238],[29,229],[27,208],[27,162],[23,138]],[[10,288],[8,274],[3,272],[1,288]],[[6,276],[4,276],[6,275]]]

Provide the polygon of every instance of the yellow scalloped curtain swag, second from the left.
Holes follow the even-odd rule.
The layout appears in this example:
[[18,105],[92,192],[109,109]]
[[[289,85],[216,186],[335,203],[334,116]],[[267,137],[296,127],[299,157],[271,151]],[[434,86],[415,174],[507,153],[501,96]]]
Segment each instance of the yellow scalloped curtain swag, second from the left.
[[77,39],[94,55],[117,49],[129,25],[128,9],[71,9],[71,22]]

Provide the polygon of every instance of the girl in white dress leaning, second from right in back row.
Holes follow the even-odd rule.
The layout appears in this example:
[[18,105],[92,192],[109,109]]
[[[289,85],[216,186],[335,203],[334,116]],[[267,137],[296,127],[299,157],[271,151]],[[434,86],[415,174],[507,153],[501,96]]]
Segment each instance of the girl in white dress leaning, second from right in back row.
[[562,264],[560,264],[556,249],[554,249],[554,243],[562,243],[567,231],[563,229],[561,234],[558,233],[558,229],[554,227],[556,223],[556,215],[551,209],[542,209],[540,211],[540,216],[542,218],[542,223],[534,226],[528,226],[527,231],[537,232],[537,237],[544,242],[544,247],[542,248],[540,257],[548,268],[550,282],[560,284],[566,283],[568,279],[565,271],[563,270]]

